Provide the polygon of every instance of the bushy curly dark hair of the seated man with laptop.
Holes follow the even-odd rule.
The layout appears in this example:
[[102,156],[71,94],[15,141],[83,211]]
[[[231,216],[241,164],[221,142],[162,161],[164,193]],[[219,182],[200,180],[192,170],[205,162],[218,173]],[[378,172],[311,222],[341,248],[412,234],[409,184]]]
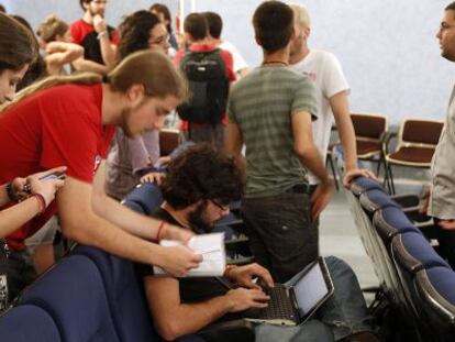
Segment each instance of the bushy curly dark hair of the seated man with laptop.
[[242,173],[232,158],[209,144],[196,144],[176,157],[162,184],[164,199],[175,209],[200,200],[229,205],[243,195]]

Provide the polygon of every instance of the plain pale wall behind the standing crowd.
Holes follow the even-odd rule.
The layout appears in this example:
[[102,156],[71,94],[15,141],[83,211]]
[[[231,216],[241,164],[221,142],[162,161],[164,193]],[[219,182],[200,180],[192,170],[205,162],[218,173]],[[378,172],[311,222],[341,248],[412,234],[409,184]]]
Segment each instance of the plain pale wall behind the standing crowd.
[[[47,14],[67,21],[81,16],[78,0],[0,0],[34,26]],[[176,13],[178,1],[162,1]],[[224,20],[223,35],[241,49],[252,65],[260,63],[251,19],[259,0],[197,0],[197,11],[212,10]],[[332,51],[340,58],[352,87],[356,111],[402,118],[439,118],[454,80],[455,65],[440,56],[435,38],[444,7],[442,0],[307,0],[311,13],[310,45]],[[153,1],[110,0],[107,19],[148,8]],[[186,9],[190,1],[186,1]]]

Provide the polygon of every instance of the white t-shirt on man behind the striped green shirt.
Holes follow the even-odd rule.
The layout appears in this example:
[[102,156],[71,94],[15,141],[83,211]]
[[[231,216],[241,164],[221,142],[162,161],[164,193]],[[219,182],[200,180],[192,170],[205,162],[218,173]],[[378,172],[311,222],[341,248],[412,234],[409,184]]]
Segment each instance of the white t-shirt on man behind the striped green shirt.
[[[325,155],[333,124],[333,112],[329,99],[341,91],[348,91],[349,86],[344,77],[339,59],[325,51],[311,49],[302,60],[290,67],[309,76],[315,82],[318,120],[312,123],[313,139],[325,164]],[[309,173],[309,180],[310,184],[319,183],[318,178],[311,173]]]

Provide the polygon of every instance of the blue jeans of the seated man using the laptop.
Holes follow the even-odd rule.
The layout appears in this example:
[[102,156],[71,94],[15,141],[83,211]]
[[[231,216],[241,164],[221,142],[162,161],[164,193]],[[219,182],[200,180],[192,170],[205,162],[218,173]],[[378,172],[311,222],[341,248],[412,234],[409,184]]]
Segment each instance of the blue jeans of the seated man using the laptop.
[[[255,330],[256,341],[340,341],[358,332],[375,331],[371,324],[373,317],[368,315],[357,277],[352,268],[334,256],[325,257],[325,262],[335,288],[333,297],[303,324],[297,327],[258,324]],[[286,284],[292,285],[300,274]]]

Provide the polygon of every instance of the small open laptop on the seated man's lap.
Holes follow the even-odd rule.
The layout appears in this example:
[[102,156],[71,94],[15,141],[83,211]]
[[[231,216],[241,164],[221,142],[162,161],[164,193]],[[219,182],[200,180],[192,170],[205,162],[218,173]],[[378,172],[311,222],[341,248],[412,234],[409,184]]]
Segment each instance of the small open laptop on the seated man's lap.
[[303,323],[333,295],[334,287],[323,257],[306,267],[292,285],[275,284],[266,290],[267,308],[248,309],[242,317],[248,321],[297,326]]

